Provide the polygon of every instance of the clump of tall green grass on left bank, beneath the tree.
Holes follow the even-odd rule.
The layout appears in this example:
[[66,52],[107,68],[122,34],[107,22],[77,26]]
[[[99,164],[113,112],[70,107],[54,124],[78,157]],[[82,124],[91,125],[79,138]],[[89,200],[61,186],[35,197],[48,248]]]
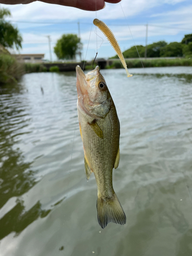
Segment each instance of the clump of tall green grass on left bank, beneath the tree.
[[24,65],[9,54],[0,54],[0,84],[18,80],[25,73]]

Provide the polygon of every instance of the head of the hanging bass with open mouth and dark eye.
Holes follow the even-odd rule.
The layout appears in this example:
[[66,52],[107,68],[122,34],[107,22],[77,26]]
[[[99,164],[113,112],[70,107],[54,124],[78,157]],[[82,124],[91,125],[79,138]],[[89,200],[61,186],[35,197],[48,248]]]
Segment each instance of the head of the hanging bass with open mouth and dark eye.
[[99,67],[85,75],[77,66],[76,73],[80,108],[93,118],[104,118],[110,111],[113,100]]

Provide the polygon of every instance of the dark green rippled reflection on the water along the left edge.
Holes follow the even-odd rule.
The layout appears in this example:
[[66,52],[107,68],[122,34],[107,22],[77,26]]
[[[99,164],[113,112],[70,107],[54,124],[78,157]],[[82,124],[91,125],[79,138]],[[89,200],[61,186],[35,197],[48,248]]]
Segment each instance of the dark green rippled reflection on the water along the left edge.
[[[0,208],[9,199],[20,197],[36,184],[31,163],[25,161],[23,152],[17,147],[21,135],[30,133],[26,89],[18,84],[7,84],[0,90]],[[26,130],[25,130],[26,129]],[[14,206],[14,205],[13,205]],[[39,216],[48,211],[41,210],[37,202],[29,211],[20,199],[0,220],[0,239],[10,232],[19,233]]]

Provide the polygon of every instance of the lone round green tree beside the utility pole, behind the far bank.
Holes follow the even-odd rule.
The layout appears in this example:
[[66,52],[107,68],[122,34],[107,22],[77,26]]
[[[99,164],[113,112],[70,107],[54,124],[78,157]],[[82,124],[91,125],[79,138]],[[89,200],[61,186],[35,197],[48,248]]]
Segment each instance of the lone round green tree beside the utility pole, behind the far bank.
[[54,52],[58,59],[73,59],[82,46],[80,38],[75,34],[64,34],[57,40]]

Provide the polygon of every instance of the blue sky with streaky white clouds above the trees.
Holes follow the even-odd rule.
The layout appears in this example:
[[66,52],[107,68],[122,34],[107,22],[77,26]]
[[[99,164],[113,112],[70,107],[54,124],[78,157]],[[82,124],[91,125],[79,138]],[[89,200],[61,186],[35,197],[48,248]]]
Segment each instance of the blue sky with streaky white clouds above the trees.
[[93,25],[96,17],[110,27],[122,51],[134,45],[145,46],[146,24],[148,44],[160,40],[180,42],[185,34],[192,33],[191,0],[122,0],[118,4],[106,3],[105,8],[97,12],[42,2],[2,4],[1,7],[11,11],[12,17],[7,20],[19,29],[23,37],[19,52],[44,53],[48,60],[47,36],[51,37],[52,58],[56,60],[54,46],[57,40],[62,34],[71,33],[80,35],[83,60],[94,59],[97,51],[97,58],[114,56],[116,53],[110,42]]

